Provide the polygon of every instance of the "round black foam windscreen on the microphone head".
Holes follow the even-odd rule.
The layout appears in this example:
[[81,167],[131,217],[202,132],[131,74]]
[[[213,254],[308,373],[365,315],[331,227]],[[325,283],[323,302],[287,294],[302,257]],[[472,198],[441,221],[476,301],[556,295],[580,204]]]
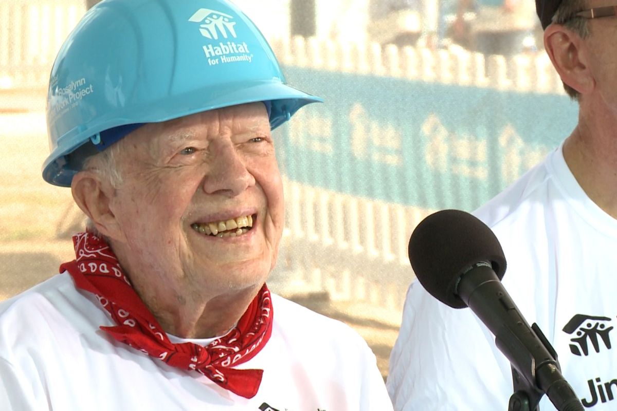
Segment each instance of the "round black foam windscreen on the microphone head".
[[499,279],[505,256],[495,234],[484,222],[460,210],[442,210],[418,224],[409,240],[409,261],[422,286],[454,308],[466,307],[455,294],[459,277],[473,264],[490,261]]

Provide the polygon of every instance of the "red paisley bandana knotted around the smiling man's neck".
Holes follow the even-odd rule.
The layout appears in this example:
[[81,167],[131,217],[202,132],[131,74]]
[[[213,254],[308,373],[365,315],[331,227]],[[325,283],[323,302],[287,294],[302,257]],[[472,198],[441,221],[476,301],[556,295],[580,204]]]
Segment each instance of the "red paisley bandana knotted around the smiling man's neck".
[[174,344],[141,301],[109,245],[91,233],[73,236],[77,258],[60,266],[75,285],[94,293],[116,327],[101,327],[116,340],[163,360],[172,367],[195,370],[239,396],[257,394],[263,370],[237,370],[259,352],[272,332],[272,302],[264,284],[238,325],[208,346]]

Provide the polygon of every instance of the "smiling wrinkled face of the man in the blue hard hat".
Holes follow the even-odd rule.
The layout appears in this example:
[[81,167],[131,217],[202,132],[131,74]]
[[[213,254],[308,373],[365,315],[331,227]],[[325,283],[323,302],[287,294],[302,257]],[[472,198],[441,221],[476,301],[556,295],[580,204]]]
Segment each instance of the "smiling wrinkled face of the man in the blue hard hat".
[[146,124],[119,144],[112,246],[131,278],[175,288],[179,298],[265,281],[284,201],[262,103]]

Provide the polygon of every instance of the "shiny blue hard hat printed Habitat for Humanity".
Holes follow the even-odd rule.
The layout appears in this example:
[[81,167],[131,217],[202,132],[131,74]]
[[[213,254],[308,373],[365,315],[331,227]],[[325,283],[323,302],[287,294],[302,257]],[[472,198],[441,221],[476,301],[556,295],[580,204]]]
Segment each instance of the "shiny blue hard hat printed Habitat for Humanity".
[[226,0],[104,0],[61,47],[49,79],[45,181],[144,123],[263,101],[276,128],[321,102],[286,85],[262,33]]

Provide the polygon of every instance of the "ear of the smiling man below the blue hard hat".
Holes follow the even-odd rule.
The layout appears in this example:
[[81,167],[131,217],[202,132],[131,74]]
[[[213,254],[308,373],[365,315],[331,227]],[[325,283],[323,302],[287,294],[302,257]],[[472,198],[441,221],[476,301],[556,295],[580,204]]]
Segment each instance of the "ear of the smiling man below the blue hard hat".
[[93,171],[80,171],[73,176],[71,192],[75,203],[102,235],[115,240],[123,238],[118,221],[110,209],[114,187],[109,182],[102,181],[101,176]]

